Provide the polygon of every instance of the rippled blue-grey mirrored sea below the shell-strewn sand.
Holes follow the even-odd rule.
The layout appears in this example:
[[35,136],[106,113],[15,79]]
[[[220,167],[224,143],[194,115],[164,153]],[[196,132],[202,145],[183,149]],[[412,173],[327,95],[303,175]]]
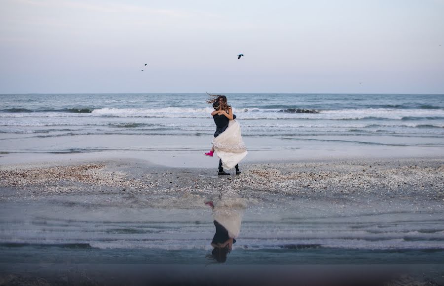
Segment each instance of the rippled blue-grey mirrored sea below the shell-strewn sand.
[[[87,196],[65,199],[70,201],[3,202],[1,260],[20,263],[34,253],[36,261],[58,263],[68,252],[77,262],[209,263],[217,220],[236,240],[226,263],[444,261],[444,219],[437,212],[386,212],[382,204],[379,213],[366,207],[347,212],[307,202],[259,204],[197,195],[187,201],[192,204],[169,200],[174,208],[160,201],[141,208],[94,205]],[[205,205],[210,200],[214,209]]]

